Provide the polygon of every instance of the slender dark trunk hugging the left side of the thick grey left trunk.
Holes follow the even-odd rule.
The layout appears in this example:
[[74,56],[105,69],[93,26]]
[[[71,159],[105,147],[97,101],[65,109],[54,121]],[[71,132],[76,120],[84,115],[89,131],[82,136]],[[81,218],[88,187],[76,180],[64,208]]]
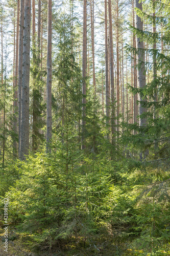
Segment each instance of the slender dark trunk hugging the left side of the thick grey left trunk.
[[[24,23],[24,6],[25,0],[20,1],[20,20],[19,20],[19,57],[18,57],[18,130],[19,130],[19,142],[18,152],[20,152],[20,122],[21,122],[21,95],[22,95],[22,53],[23,53],[23,23]],[[20,153],[19,153],[20,154]]]

